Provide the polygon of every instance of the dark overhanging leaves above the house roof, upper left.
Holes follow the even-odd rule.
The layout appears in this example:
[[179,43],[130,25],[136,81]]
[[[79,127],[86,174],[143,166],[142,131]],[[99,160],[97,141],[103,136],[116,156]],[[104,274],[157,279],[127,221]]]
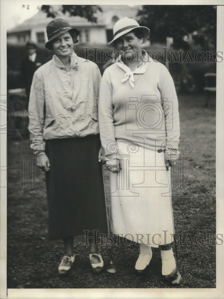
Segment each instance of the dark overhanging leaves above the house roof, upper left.
[[[80,16],[86,18],[88,21],[97,22],[97,18],[94,16],[98,10],[102,11],[98,5],[61,5],[62,13],[69,13],[70,16]],[[47,17],[55,18],[56,12],[54,12],[51,5],[42,5],[41,10],[47,13]]]

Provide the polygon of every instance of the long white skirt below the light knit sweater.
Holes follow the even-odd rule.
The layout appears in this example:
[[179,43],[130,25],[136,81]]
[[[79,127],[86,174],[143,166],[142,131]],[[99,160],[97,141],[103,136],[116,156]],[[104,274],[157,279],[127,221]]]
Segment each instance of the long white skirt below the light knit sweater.
[[118,175],[110,173],[111,232],[152,247],[171,243],[170,171],[164,153],[130,142],[117,145],[122,170]]

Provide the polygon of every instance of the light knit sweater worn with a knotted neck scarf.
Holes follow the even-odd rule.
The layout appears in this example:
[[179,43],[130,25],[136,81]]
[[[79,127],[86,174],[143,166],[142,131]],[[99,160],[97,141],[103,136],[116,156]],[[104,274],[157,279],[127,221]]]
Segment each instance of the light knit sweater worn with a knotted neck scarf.
[[[170,144],[178,149],[178,100],[167,68],[149,58],[143,74],[134,74],[134,88],[122,82],[125,71],[116,62],[102,77],[99,94],[99,128],[106,156],[116,141],[135,142],[152,150]],[[123,80],[124,81],[124,80]]]

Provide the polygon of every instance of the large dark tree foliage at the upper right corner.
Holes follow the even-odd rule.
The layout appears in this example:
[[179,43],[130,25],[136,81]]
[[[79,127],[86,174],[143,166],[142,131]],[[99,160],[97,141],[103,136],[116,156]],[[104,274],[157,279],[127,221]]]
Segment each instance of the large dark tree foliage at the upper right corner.
[[143,5],[138,16],[140,24],[150,29],[151,42],[164,43],[172,37],[175,48],[184,48],[184,36],[197,31],[195,42],[216,45],[216,6]]

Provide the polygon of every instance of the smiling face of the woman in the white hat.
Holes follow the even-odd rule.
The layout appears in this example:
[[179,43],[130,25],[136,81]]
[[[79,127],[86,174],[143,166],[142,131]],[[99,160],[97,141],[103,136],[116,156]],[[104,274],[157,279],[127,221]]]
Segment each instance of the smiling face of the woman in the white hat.
[[133,32],[128,32],[116,40],[116,48],[121,51],[125,60],[137,57],[137,52],[141,51],[142,38],[138,38]]

